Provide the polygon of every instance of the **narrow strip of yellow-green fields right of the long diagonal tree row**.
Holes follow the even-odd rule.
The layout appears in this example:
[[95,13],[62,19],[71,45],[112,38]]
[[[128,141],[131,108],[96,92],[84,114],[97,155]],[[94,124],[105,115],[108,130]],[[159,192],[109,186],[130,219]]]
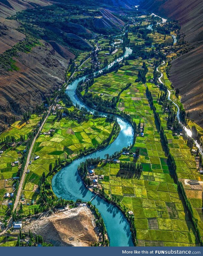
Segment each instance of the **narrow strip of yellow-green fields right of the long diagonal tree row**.
[[[148,85],[147,85],[148,86]],[[149,87],[149,90],[154,95],[153,87]],[[173,96],[172,96],[173,97]],[[174,95],[175,97],[175,95]],[[178,99],[176,101],[178,104]],[[203,236],[203,215],[202,215],[202,184],[203,177],[197,171],[196,162],[194,156],[191,154],[190,148],[183,140],[182,136],[173,135],[171,130],[166,128],[167,113],[164,113],[161,106],[154,101],[157,112],[159,113],[161,124],[165,128],[165,134],[168,139],[168,145],[171,154],[174,156],[177,165],[177,175],[179,180],[183,183],[183,187],[187,194],[187,198],[190,200],[195,218],[198,220],[198,226],[201,236]],[[181,103],[180,103],[181,104]],[[190,181],[199,181],[200,186],[193,187],[190,185]]]

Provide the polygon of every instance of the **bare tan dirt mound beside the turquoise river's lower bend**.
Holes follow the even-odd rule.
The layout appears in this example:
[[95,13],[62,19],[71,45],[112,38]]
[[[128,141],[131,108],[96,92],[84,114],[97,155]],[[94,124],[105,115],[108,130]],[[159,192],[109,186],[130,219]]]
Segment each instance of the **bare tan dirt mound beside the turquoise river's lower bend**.
[[94,216],[87,207],[56,214],[44,213],[23,229],[42,235],[46,242],[54,246],[91,246],[98,241]]

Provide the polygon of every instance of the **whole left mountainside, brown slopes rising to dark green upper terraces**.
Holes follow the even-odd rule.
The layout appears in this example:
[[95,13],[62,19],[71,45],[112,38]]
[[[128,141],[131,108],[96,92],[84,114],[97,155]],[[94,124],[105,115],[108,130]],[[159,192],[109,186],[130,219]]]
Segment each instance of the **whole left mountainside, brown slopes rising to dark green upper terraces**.
[[65,81],[69,59],[93,48],[89,39],[121,31],[114,13],[137,2],[0,0],[0,131]]

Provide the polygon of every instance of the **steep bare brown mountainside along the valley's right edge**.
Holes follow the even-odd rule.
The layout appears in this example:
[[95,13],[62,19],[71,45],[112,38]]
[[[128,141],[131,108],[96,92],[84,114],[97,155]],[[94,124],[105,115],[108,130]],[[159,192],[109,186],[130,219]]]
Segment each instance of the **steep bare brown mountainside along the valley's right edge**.
[[172,62],[170,79],[180,89],[190,118],[203,126],[203,1],[144,0],[141,7],[179,20],[181,36],[195,47]]

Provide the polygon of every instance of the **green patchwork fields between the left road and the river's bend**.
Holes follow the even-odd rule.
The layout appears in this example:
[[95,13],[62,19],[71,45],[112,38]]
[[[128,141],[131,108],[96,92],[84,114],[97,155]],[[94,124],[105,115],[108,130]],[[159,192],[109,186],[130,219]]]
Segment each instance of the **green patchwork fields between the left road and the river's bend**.
[[[48,174],[50,163],[54,167],[59,157],[76,157],[85,148],[97,146],[109,137],[113,125],[114,122],[110,123],[106,118],[90,116],[89,120],[78,122],[68,117],[58,120],[55,115],[50,115],[33,147],[30,160],[36,156],[40,158],[29,166],[30,172],[26,174],[23,186],[24,198],[37,199],[35,185],[38,185],[43,172]],[[43,134],[50,129],[55,130],[53,136]]]

